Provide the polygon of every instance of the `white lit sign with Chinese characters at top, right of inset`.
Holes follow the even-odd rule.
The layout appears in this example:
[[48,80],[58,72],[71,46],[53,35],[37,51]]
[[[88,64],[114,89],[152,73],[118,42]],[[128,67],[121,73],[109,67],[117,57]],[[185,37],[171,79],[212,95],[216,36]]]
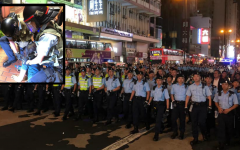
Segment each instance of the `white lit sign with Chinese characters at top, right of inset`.
[[103,0],[90,0],[89,15],[103,15]]

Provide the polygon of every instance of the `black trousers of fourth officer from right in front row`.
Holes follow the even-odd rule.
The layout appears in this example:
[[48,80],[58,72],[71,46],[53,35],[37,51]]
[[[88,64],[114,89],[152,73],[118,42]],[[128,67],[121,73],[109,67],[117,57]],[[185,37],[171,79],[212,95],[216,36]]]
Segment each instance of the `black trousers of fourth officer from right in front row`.
[[156,125],[155,125],[155,133],[159,134],[160,131],[162,130],[162,119],[163,115],[166,109],[166,103],[165,102],[153,102],[153,107],[156,107],[157,111],[157,116],[156,116]]

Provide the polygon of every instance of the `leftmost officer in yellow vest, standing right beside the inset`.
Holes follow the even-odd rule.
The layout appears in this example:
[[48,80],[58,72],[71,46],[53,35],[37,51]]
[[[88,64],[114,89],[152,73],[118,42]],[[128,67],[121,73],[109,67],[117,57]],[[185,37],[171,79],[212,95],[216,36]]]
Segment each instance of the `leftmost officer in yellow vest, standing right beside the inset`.
[[61,87],[61,91],[63,91],[64,88],[64,95],[65,95],[65,99],[66,99],[66,109],[63,115],[63,120],[67,120],[67,116],[69,111],[71,111],[71,115],[74,115],[74,110],[73,110],[73,106],[72,106],[72,97],[74,96],[74,93],[76,91],[77,88],[77,82],[76,82],[76,78],[71,74],[71,68],[67,67],[66,68],[66,75],[65,75],[65,84],[62,85]]

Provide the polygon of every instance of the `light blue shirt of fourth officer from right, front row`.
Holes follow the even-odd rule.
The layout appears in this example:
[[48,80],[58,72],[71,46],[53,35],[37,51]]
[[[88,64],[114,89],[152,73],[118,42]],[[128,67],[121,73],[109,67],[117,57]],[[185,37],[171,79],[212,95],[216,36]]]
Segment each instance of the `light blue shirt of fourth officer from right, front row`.
[[163,86],[156,87],[151,91],[151,97],[154,97],[153,101],[164,101],[165,99],[169,99],[168,90],[164,89],[162,91]]

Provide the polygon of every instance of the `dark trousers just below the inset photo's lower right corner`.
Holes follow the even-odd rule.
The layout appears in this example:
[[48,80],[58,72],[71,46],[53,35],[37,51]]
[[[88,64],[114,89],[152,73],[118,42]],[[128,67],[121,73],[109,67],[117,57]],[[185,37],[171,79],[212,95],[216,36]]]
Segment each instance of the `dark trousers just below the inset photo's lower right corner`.
[[60,87],[53,87],[53,105],[55,109],[55,113],[59,114],[61,111],[61,95],[60,95]]

